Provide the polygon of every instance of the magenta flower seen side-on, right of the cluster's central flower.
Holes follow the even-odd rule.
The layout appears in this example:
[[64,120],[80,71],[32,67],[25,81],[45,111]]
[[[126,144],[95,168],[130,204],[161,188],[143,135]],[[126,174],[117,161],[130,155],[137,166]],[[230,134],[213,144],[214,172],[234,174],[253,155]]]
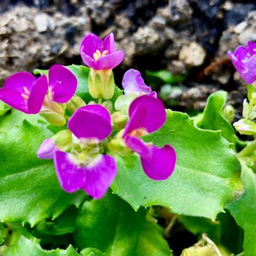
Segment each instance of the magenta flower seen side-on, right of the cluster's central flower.
[[129,121],[125,126],[123,139],[131,150],[139,154],[143,170],[154,180],[164,180],[172,174],[176,162],[176,153],[172,146],[158,148],[145,143],[139,137],[152,133],[166,121],[164,105],[158,98],[143,95],[131,103]]

